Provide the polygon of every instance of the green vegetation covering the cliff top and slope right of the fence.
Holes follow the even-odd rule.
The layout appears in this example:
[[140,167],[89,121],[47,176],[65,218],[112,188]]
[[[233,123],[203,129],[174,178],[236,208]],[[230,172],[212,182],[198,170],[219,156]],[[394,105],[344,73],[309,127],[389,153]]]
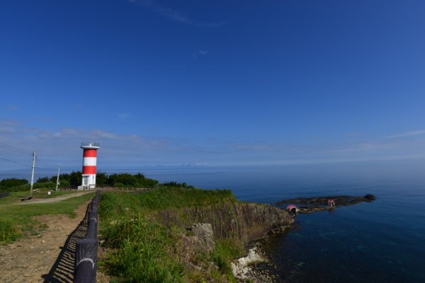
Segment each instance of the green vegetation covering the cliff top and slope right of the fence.
[[[185,186],[186,187],[186,186]],[[182,217],[188,207],[206,207],[236,202],[229,190],[199,190],[181,186],[139,193],[101,194],[99,216],[104,246],[111,248],[102,265],[118,282],[236,282],[230,262],[242,255],[237,238],[215,239],[215,250],[200,254],[193,262],[179,255],[186,226],[181,221],[165,227],[157,216],[175,212]],[[184,246],[184,245],[183,245]],[[202,270],[193,265],[203,267]],[[210,264],[215,265],[210,268]]]

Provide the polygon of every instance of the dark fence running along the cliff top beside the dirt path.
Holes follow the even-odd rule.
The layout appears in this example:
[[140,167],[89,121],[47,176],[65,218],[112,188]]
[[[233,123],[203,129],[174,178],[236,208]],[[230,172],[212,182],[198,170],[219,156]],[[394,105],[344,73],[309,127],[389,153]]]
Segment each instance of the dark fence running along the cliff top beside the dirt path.
[[87,212],[87,236],[77,241],[75,251],[74,283],[95,283],[98,250],[98,204],[101,190],[96,190],[96,196],[91,200]]

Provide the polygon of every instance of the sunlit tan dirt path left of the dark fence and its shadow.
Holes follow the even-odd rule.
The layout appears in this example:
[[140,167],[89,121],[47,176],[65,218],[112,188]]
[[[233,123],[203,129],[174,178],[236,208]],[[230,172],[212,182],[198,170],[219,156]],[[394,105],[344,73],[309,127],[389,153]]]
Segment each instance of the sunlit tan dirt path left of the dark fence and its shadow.
[[[67,195],[48,199],[47,202],[64,200],[64,197],[77,197],[81,194]],[[41,200],[42,202],[45,200]],[[31,202],[35,203],[35,202]],[[69,235],[79,226],[86,214],[88,202],[81,204],[75,211],[77,216],[70,218],[67,215],[43,215],[35,217],[47,229],[38,236],[21,238],[15,243],[0,246],[0,282],[44,282],[52,266],[62,251]],[[69,262],[70,265],[73,262]],[[57,281],[57,282],[68,282]]]

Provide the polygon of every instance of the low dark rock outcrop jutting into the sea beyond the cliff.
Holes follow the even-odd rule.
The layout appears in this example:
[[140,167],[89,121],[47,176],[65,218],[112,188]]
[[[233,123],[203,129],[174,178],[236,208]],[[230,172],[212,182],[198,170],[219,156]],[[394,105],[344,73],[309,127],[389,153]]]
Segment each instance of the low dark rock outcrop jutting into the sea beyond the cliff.
[[[328,205],[328,200],[334,200],[334,207]],[[302,204],[298,207],[300,213],[319,212],[326,209],[334,209],[336,207],[358,204],[360,202],[372,202],[375,200],[374,195],[365,195],[364,197],[353,197],[349,195],[336,195],[328,197],[296,197],[294,199],[280,200],[276,202],[277,206],[283,204]]]

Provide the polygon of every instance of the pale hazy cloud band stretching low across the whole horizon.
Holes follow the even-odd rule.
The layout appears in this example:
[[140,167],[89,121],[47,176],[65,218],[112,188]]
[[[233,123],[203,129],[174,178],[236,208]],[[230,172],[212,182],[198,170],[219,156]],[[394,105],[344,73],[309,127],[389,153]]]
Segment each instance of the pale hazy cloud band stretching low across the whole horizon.
[[[108,129],[82,129],[64,127],[46,129],[26,127],[21,122],[0,120],[0,141],[26,151],[37,150],[48,164],[61,163],[79,170],[81,166],[81,141],[101,143],[99,168],[125,168],[136,165],[179,163],[232,164],[291,164],[346,161],[376,161],[402,158],[425,158],[425,131],[405,132],[393,136],[409,139],[367,139],[361,141],[322,142],[305,140],[251,141],[241,139],[205,140],[178,139],[176,137],[143,136],[137,132],[121,134]],[[28,156],[16,156],[16,152],[0,148],[0,156],[26,163]],[[21,158],[21,159],[19,159]],[[10,164],[0,162],[0,170]],[[18,165],[17,165],[18,168]]]

